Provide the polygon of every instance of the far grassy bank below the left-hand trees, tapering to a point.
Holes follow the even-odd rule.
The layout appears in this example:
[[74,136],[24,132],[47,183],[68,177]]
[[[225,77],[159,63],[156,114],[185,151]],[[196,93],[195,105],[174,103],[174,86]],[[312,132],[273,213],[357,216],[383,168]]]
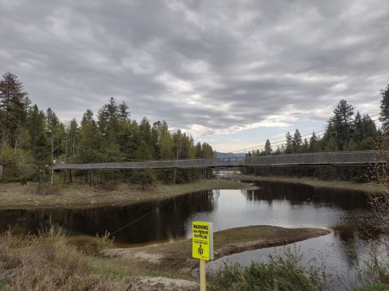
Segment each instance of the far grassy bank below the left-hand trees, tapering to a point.
[[246,183],[224,180],[200,180],[197,182],[162,185],[145,190],[139,185],[121,184],[112,189],[85,184],[63,184],[46,186],[45,193],[37,195],[37,184],[0,184],[0,209],[29,208],[86,208],[104,205],[130,205],[139,202],[173,198],[184,193],[210,189],[242,189]]

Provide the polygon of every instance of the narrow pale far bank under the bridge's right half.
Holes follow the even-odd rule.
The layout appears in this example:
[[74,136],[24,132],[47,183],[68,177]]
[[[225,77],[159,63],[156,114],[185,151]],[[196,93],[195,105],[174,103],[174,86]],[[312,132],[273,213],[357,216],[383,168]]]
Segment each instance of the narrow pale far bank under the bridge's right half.
[[342,188],[342,189],[354,189],[369,193],[381,193],[382,189],[379,184],[376,183],[356,183],[349,181],[329,181],[320,180],[310,177],[287,177],[287,176],[254,176],[246,174],[224,174],[221,177],[229,178],[234,181],[271,181],[271,182],[287,182],[295,184],[304,184],[314,187],[326,187],[326,188]]

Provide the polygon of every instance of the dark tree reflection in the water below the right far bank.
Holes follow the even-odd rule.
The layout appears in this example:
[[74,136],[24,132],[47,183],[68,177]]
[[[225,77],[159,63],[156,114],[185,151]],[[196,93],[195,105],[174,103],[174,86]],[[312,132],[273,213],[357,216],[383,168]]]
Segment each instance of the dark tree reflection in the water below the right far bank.
[[291,205],[300,205],[303,202],[325,203],[343,210],[368,207],[366,194],[358,190],[270,181],[257,182],[256,185],[260,187],[257,190],[242,190],[247,200],[267,201],[269,204],[275,200],[287,200]]

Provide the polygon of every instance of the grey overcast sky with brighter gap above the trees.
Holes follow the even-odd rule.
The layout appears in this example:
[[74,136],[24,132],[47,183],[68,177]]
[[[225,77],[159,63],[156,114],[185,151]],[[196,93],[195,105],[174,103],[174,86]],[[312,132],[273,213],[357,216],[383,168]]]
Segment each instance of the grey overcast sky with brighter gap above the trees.
[[[389,1],[0,0],[0,73],[61,120],[110,97],[220,152],[379,112]],[[374,119],[374,118],[373,118]]]

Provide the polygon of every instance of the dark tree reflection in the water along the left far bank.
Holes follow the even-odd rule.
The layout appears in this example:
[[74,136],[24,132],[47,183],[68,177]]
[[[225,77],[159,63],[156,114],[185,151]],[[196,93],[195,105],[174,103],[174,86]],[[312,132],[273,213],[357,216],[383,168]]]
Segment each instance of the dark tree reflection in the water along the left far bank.
[[161,202],[147,202],[123,207],[101,207],[92,209],[50,209],[50,210],[7,210],[0,211],[0,231],[8,224],[18,223],[18,230],[35,232],[43,225],[63,225],[70,234],[95,235],[105,230],[113,232],[151,212],[144,218],[115,233],[115,240],[122,243],[147,243],[186,235],[182,225],[190,215],[213,211],[220,195],[219,191],[201,191],[176,197],[161,208]]

